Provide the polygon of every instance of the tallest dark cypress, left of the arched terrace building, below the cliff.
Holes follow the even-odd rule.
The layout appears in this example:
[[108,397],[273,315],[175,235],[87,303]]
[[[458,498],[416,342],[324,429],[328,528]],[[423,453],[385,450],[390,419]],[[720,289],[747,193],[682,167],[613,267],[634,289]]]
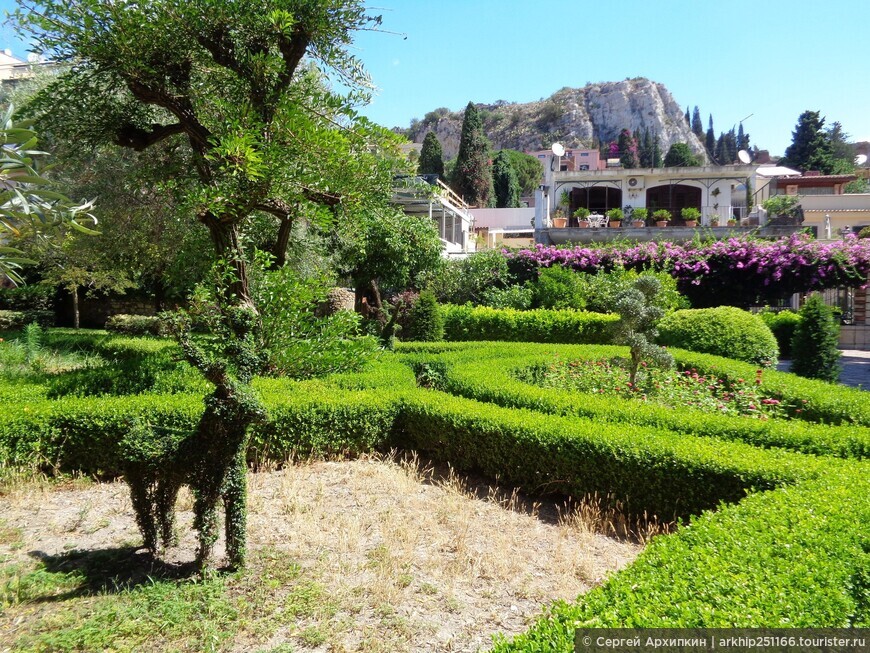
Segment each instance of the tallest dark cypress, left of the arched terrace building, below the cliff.
[[493,200],[489,141],[480,111],[469,102],[462,120],[459,154],[451,178],[453,190],[472,206],[490,206]]

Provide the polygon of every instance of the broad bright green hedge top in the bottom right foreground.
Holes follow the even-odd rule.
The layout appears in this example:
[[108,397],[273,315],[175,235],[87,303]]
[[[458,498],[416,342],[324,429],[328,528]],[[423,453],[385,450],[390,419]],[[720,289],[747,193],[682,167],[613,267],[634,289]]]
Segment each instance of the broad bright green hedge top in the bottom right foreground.
[[868,471],[853,463],[707,513],[493,651],[569,653],[575,628],[866,628]]

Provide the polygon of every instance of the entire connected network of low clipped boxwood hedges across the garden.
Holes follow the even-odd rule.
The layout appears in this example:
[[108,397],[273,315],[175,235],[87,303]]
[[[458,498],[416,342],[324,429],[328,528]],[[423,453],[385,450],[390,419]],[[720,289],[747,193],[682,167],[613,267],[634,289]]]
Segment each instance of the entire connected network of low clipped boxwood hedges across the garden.
[[[137,342],[156,347],[158,357],[166,346],[144,339],[127,344],[137,350]],[[769,389],[809,397],[808,411],[820,421],[859,425],[782,426],[601,397],[595,403],[591,396],[543,390],[511,376],[512,369],[555,354],[622,351],[506,343],[400,346],[397,355],[384,354],[360,373],[258,380],[269,419],[254,433],[251,458],[414,448],[531,491],[598,492],[636,512],[691,517],[602,586],[577,602],[555,604],[530,631],[502,640],[496,646],[502,653],[571,651],[578,626],[868,625],[870,463],[856,460],[867,451],[861,427],[870,425],[866,395],[765,372]],[[699,369],[743,376],[755,371],[713,356],[676,354]],[[415,366],[435,363],[446,391],[415,387]],[[0,383],[2,396],[15,396],[10,385]],[[202,411],[196,393],[49,400],[31,385],[26,396],[0,409],[0,456],[7,464],[38,461],[117,473],[117,443],[131,423],[189,430]],[[846,419],[851,414],[857,417]],[[837,415],[842,417],[832,419]],[[858,435],[850,440],[848,430]]]

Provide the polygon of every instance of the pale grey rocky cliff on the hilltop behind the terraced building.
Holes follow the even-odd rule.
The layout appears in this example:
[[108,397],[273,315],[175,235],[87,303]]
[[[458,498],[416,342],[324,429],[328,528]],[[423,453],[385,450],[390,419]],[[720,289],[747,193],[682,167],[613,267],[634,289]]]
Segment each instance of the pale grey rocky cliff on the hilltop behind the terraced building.
[[[568,148],[596,147],[615,141],[619,132],[628,128],[657,133],[663,155],[673,143],[680,142],[688,143],[697,154],[705,152],[668,89],[642,77],[566,87],[538,102],[500,101],[477,106],[494,149],[528,152],[549,148],[557,141]],[[443,108],[431,111],[411,124],[407,136],[422,143],[426,133],[434,131],[444,158],[451,159],[459,150],[464,113]]]

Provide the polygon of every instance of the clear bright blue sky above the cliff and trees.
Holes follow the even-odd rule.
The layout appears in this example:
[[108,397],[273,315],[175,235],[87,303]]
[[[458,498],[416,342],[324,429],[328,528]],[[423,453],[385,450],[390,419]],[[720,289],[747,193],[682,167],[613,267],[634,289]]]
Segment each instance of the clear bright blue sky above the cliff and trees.
[[[564,86],[648,77],[704,128],[744,120],[782,154],[819,110],[870,140],[870,0],[370,0],[383,29],[355,53],[379,92],[363,113],[387,127],[446,106],[528,102]],[[0,0],[0,9],[15,6]],[[405,38],[407,37],[407,38]],[[8,29],[0,47],[23,56]],[[594,51],[594,54],[587,54]],[[746,118],[746,116],[750,116]]]

